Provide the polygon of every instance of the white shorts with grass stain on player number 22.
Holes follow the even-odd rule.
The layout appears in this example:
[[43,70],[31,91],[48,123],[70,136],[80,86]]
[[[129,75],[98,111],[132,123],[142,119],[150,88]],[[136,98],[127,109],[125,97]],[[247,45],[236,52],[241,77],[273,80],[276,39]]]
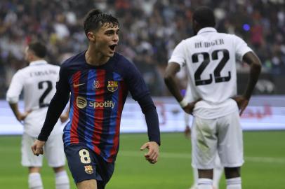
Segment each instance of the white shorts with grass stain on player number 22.
[[244,148],[238,112],[216,119],[194,117],[192,166],[213,169],[217,152],[223,167],[243,165]]

